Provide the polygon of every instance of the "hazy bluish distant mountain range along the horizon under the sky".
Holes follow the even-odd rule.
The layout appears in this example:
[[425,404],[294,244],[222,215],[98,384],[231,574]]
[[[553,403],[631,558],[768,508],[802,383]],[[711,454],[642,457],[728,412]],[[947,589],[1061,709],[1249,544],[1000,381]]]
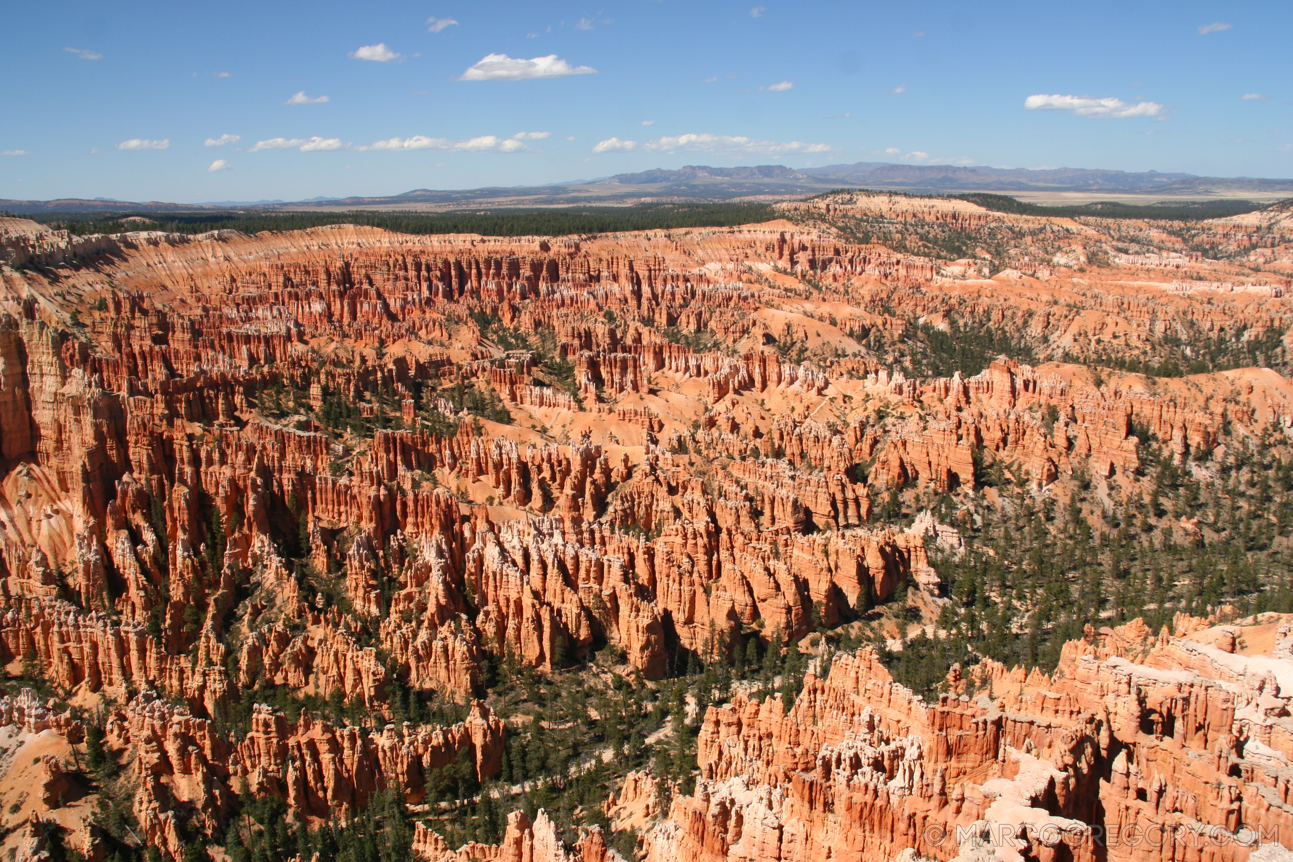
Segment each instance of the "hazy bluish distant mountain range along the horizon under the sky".
[[198,209],[454,209],[462,207],[560,207],[626,204],[641,200],[732,200],[736,198],[799,196],[831,189],[855,187],[913,194],[992,191],[1094,193],[1117,195],[1188,195],[1243,198],[1245,194],[1293,196],[1293,180],[1250,177],[1199,177],[1190,173],[1100,171],[1090,168],[987,168],[958,165],[890,164],[859,162],[821,168],[793,169],[780,164],[711,168],[685,165],[617,173],[603,180],[547,186],[433,190],[414,189],[374,198],[312,198],[309,200],[221,200],[176,204],[150,200],[62,198],[58,200],[4,200],[0,209],[13,213],[88,212],[191,212]]

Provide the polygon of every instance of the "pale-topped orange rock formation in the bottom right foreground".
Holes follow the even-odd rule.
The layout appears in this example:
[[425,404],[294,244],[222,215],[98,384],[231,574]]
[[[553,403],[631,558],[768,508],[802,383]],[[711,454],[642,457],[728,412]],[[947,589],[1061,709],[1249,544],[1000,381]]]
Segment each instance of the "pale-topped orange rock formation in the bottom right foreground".
[[780,695],[710,707],[697,791],[648,859],[950,859],[1002,839],[1043,859],[1245,859],[1293,828],[1277,681],[1293,664],[1208,640],[1089,631],[1049,677],[989,662],[972,698],[954,672],[937,703],[869,649],[838,655],[789,713]]

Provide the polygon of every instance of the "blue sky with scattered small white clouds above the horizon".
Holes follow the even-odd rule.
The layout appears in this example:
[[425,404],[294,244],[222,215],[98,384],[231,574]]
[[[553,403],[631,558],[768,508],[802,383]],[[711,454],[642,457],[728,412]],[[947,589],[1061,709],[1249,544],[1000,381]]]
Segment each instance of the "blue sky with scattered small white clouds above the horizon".
[[0,198],[862,160],[1293,177],[1289,3],[8,3],[0,32]]

